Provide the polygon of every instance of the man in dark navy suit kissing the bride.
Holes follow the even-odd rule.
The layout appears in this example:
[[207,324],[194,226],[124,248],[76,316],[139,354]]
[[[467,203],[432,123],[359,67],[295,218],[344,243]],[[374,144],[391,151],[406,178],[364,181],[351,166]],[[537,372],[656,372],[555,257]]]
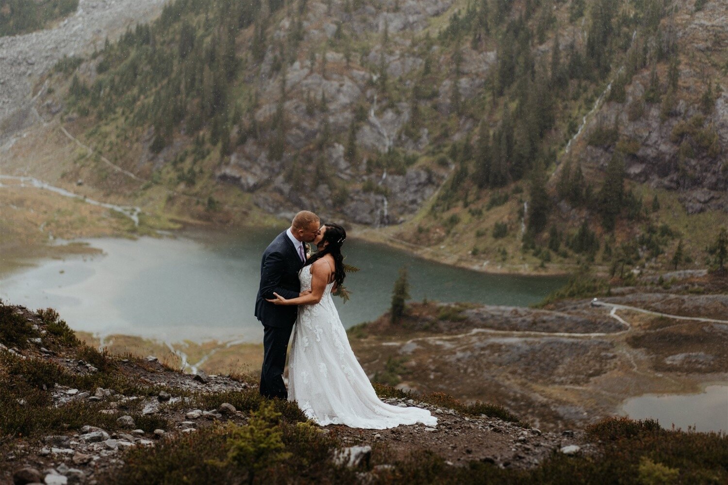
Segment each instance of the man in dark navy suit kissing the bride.
[[298,212],[290,228],[276,236],[263,253],[256,317],[264,329],[261,396],[266,398],[288,398],[282,376],[288,339],[298,313],[295,305],[274,305],[266,299],[275,298],[273,292],[284,298],[300,296],[298,270],[306,262],[304,243],[316,239],[319,227],[320,220],[313,212]]

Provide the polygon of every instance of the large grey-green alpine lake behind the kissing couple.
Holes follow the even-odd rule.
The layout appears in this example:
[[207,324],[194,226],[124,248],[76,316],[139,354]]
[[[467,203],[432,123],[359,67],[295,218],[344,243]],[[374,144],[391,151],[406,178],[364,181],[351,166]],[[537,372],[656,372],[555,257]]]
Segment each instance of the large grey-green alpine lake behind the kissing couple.
[[[253,316],[261,254],[280,231],[184,232],[161,239],[89,239],[103,254],[41,260],[0,279],[0,299],[28,308],[55,308],[71,328],[167,341],[259,342]],[[352,293],[336,298],[347,328],[389,308],[398,271],[408,270],[412,300],[526,306],[563,285],[563,277],[479,273],[414,257],[389,246],[349,238]]]

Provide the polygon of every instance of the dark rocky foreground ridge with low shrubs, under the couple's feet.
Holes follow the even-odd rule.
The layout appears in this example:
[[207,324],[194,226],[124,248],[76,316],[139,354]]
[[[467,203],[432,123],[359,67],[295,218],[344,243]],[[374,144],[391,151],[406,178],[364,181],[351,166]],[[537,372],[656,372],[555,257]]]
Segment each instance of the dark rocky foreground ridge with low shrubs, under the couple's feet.
[[381,386],[385,401],[430,409],[438,425],[320,428],[296,404],[261,399],[254,382],[181,374],[152,356],[98,353],[50,309],[0,304],[0,340],[0,476],[13,484],[386,484],[466,476],[567,483],[664,473],[720,481],[728,474],[725,436],[630,420],[547,433],[499,406]]

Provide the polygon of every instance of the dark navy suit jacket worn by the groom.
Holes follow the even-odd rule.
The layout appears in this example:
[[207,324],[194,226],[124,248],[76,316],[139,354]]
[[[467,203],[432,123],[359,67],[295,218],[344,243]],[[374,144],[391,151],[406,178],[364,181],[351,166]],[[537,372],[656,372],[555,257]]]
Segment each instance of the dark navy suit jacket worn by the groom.
[[261,260],[261,284],[256,298],[256,317],[261,324],[287,328],[296,323],[296,305],[274,305],[266,299],[274,298],[273,292],[288,300],[298,297],[301,293],[298,271],[303,266],[296,246],[285,231],[268,245]]

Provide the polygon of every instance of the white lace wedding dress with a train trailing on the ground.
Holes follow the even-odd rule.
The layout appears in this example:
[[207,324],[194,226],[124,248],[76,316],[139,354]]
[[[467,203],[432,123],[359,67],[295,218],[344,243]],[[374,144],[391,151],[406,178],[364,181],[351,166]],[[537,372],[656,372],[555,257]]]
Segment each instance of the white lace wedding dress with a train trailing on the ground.
[[[311,289],[310,266],[298,273],[301,291]],[[339,312],[326,285],[316,305],[300,305],[288,362],[288,400],[319,425],[383,430],[438,419],[426,409],[397,407],[379,400],[352,352]]]

